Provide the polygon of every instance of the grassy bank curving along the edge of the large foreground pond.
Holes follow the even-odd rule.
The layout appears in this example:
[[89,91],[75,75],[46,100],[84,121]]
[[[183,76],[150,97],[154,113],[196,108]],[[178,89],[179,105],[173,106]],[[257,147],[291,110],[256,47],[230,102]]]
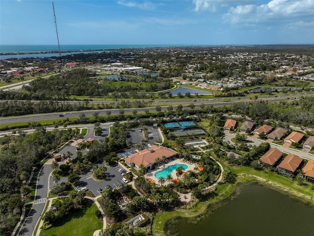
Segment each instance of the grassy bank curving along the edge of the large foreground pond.
[[[232,195],[237,183],[248,183],[258,180],[266,186],[273,186],[280,192],[292,195],[303,202],[314,206],[314,189],[313,184],[300,186],[297,181],[291,181],[289,178],[276,175],[268,170],[257,171],[251,167],[232,166],[230,170],[237,175],[236,183],[224,183],[216,185],[216,191],[209,194],[207,199],[199,203],[192,209],[177,209],[171,212],[162,211],[157,213],[154,218],[152,232],[153,236],[166,236],[164,232],[167,222],[175,218],[184,218],[186,221],[197,222],[207,218],[215,209],[225,204],[227,198]],[[207,200],[207,201],[206,201]],[[222,201],[226,200],[226,201]],[[216,206],[216,207],[209,207]],[[174,220],[175,223],[176,221]]]

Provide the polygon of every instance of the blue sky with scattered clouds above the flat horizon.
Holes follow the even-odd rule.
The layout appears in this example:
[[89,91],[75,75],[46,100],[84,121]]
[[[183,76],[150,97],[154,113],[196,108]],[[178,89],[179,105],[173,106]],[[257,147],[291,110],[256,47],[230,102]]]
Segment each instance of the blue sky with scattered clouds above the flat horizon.
[[[314,43],[314,0],[54,0],[60,44]],[[56,44],[51,0],[1,0],[0,44]]]

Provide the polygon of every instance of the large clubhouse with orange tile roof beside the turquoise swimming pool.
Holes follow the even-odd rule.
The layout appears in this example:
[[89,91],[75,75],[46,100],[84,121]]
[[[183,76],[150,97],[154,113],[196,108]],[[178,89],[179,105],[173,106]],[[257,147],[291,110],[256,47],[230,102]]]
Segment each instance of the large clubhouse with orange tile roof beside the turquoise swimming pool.
[[151,169],[157,157],[161,158],[162,156],[166,156],[169,159],[176,155],[177,152],[170,148],[153,145],[150,148],[124,158],[124,161],[128,166],[135,167],[136,169],[138,169],[141,164],[143,164],[145,168]]

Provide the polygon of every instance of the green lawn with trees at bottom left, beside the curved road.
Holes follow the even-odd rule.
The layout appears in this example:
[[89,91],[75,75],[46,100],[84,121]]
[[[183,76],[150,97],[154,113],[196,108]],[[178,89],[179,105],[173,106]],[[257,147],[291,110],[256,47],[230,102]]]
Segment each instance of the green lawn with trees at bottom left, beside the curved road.
[[[94,231],[103,229],[103,221],[97,219],[95,211],[96,204],[88,200],[85,206],[78,212],[68,216],[63,222],[45,230],[46,236],[92,236]],[[44,232],[41,231],[43,236]]]

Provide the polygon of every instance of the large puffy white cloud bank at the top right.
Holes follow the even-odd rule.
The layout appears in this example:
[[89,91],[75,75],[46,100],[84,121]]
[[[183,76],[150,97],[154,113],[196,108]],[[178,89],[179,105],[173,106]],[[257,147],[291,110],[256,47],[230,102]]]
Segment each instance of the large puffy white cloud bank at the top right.
[[233,24],[289,23],[314,20],[314,0],[271,0],[262,5],[237,5],[223,15]]

